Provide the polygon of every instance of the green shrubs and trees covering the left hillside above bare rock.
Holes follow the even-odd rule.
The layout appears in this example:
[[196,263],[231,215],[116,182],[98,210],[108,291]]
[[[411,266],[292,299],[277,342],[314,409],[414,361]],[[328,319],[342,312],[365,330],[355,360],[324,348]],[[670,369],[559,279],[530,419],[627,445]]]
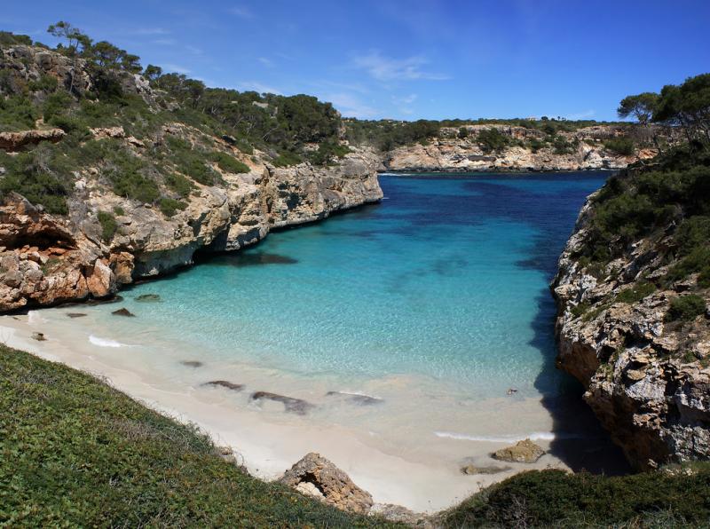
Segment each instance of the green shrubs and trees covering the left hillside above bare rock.
[[[163,75],[159,67],[143,69],[138,56],[106,41],[95,43],[67,22],[48,31],[61,39],[54,51],[67,57],[69,75],[60,81],[51,75],[27,81],[12,68],[0,69],[0,131],[53,126],[67,136],[17,155],[0,150],[6,173],[0,193],[16,191],[64,215],[75,172],[97,167],[97,178],[114,193],[158,205],[170,217],[181,209],[194,183],[219,183],[217,169],[248,172],[240,158],[255,148],[281,166],[304,160],[327,165],[349,152],[339,141],[340,115],[329,103],[304,95],[209,89],[185,75]],[[10,60],[5,50],[17,45],[39,44],[28,36],[0,32],[0,62]],[[153,85],[152,98],[144,99],[132,88],[138,73]],[[82,88],[83,75],[89,76],[91,90]],[[162,141],[164,127],[174,123],[197,133],[177,130]],[[125,142],[94,138],[90,132],[115,126],[144,142],[140,155]]]

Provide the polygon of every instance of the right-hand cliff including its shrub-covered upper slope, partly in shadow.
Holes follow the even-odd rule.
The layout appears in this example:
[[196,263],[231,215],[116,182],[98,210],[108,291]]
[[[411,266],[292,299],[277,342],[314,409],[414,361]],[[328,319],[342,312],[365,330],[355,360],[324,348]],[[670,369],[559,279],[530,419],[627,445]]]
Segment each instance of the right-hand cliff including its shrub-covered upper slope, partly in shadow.
[[[702,257],[710,224],[697,215],[709,204],[706,170],[692,174],[627,170],[612,178],[582,209],[552,284],[558,366],[584,384],[588,405],[642,469],[710,458],[710,285],[703,271],[710,262]],[[663,182],[675,186],[670,198]],[[648,216],[654,199],[644,189],[666,209]],[[623,219],[600,244],[611,216]],[[588,257],[606,244],[619,251]]]

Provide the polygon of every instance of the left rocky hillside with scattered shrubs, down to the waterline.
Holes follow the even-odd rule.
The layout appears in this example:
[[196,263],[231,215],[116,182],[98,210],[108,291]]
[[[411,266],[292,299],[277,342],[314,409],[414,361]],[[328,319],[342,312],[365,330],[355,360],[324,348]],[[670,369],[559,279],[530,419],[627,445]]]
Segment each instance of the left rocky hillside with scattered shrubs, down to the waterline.
[[[140,75],[109,72],[122,99],[106,103],[83,59],[16,45],[0,50],[0,70],[6,107],[43,114],[34,130],[0,132],[0,311],[110,296],[199,250],[241,249],[274,227],[382,198],[367,148],[277,167],[273,153],[247,154],[214,125],[177,121],[175,100]],[[69,108],[54,118],[64,130],[43,121],[57,101]],[[30,203],[17,188],[41,193]],[[42,202],[58,196],[66,214],[51,215]]]

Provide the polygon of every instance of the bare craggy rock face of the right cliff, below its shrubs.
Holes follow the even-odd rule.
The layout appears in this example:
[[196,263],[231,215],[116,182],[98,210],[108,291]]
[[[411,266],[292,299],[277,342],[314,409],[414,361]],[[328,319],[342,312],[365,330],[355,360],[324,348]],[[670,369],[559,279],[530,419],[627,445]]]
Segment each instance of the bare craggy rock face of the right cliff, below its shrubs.
[[[619,293],[667,272],[672,263],[664,249],[673,226],[636,241],[593,275],[573,257],[587,244],[593,215],[588,201],[552,284],[558,366],[584,384],[584,399],[636,467],[708,459],[710,314],[684,323],[664,320],[671,300],[694,286],[697,274],[640,301],[619,301]],[[707,289],[698,294],[710,302]]]

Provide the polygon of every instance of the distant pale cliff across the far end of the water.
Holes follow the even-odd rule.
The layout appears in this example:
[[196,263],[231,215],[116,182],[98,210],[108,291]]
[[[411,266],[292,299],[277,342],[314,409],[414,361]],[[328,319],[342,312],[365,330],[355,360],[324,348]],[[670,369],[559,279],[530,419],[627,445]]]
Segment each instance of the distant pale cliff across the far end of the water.
[[[657,153],[653,148],[642,148],[624,156],[604,146],[605,140],[628,133],[627,127],[618,125],[560,132],[557,139],[562,144],[557,148],[546,145],[546,134],[538,129],[497,124],[468,125],[462,129],[466,130],[464,134],[460,129],[442,128],[438,137],[426,145],[400,146],[385,154],[383,162],[389,170],[403,171],[614,170]],[[481,146],[478,135],[484,130],[498,130],[509,139],[508,145],[499,150]]]

